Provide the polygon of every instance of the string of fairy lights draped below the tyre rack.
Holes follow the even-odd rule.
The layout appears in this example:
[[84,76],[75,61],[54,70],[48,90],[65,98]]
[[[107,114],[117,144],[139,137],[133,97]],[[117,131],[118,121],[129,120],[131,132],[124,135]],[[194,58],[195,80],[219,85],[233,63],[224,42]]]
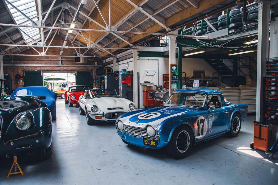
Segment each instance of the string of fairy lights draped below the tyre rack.
[[[240,28],[238,28],[238,30],[240,30],[240,29],[242,29],[242,28],[243,28],[243,27],[240,27]],[[225,37],[223,37],[223,38],[230,37],[231,35],[234,35],[235,33],[237,33],[238,30],[234,31],[232,34],[227,35],[227,36],[225,36]],[[200,39],[197,39],[197,38],[193,38],[193,39],[196,39],[196,41],[197,41],[198,43],[200,43],[201,45],[188,45],[188,44],[179,43],[179,42],[178,42],[178,44],[179,44],[179,45],[182,45],[183,47],[204,47],[204,46],[207,46],[207,47],[219,47],[219,48],[228,48],[228,49],[249,48],[249,47],[256,46],[257,43],[255,43],[255,44],[247,44],[247,45],[245,45],[245,46],[236,46],[236,47],[227,47],[227,46],[225,46],[226,44],[230,43],[232,40],[237,39],[237,38],[238,38],[242,33],[244,33],[246,30],[247,30],[247,28],[246,28],[246,29],[243,29],[242,32],[240,32],[240,33],[237,35],[237,37],[234,37],[233,39],[230,39],[229,41],[224,42],[224,43],[221,43],[221,44],[215,44],[215,43],[217,43],[217,42],[220,42],[219,40],[213,41],[213,42],[211,42],[211,43],[206,43],[206,42],[204,42],[204,41],[202,41],[202,40],[200,40]],[[255,38],[254,38],[253,40],[255,40]]]

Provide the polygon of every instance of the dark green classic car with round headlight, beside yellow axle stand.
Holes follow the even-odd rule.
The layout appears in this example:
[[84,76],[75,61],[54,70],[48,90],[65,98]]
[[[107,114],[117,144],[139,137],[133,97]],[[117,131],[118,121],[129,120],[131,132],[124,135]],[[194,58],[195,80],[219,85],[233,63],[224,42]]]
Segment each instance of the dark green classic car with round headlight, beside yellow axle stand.
[[[1,86],[4,79],[0,79]],[[7,93],[10,94],[10,93]],[[51,157],[52,117],[45,97],[20,95],[0,99],[0,156],[35,155]]]

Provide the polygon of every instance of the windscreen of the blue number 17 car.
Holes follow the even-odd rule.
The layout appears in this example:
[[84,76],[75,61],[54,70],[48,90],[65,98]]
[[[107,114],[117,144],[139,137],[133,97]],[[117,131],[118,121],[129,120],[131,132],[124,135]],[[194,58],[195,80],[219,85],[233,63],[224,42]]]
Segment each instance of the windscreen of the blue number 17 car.
[[165,105],[180,105],[197,108],[204,108],[206,105],[205,94],[191,92],[175,92],[172,93]]

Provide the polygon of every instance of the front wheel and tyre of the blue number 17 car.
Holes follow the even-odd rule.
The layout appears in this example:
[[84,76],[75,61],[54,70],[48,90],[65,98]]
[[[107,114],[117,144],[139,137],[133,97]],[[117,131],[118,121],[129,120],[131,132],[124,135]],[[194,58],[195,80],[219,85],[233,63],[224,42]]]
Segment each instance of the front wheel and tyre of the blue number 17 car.
[[193,141],[192,130],[186,125],[181,125],[175,129],[170,142],[166,146],[167,152],[173,158],[184,158],[189,154]]

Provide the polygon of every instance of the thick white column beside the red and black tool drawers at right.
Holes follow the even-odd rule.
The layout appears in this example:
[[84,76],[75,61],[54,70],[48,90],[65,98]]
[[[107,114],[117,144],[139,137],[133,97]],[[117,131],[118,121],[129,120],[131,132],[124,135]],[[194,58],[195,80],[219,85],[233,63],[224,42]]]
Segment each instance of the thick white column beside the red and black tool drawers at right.
[[270,3],[258,2],[258,51],[257,51],[257,97],[256,121],[260,121],[260,109],[263,107],[263,76],[265,75],[265,61],[268,58],[269,11]]

